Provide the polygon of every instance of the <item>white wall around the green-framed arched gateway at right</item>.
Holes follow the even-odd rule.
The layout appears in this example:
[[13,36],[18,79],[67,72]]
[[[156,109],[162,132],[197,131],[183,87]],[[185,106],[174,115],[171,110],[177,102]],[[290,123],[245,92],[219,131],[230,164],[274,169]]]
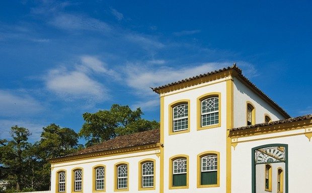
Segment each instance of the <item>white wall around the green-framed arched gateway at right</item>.
[[[283,132],[283,134],[287,133],[293,134],[292,131]],[[280,133],[275,133],[274,135],[278,136]],[[258,135],[257,138],[264,136]],[[242,142],[238,143],[235,150],[232,147],[232,193],[251,192],[252,148],[273,143],[288,144],[288,192],[311,191],[310,186],[307,184],[310,184],[312,173],[312,167],[309,164],[312,160],[312,142],[304,134],[300,134]],[[273,176],[273,179],[275,178]]]

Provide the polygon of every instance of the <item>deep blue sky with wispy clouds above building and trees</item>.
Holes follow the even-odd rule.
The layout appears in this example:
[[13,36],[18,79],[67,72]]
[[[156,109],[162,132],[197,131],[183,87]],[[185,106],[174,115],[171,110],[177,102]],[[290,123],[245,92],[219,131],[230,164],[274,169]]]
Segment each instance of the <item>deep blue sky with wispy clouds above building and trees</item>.
[[237,62],[291,116],[312,113],[309,1],[1,1],[0,133],[79,131],[114,103],[159,120],[164,85]]

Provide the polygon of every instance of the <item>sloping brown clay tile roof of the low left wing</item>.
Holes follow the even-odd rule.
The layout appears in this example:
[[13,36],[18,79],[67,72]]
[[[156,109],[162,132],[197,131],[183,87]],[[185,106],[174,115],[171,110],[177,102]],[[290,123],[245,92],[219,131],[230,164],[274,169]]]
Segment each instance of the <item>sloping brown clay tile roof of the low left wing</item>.
[[114,139],[103,141],[102,143],[87,147],[75,153],[57,157],[55,159],[158,143],[160,142],[160,136],[161,135],[159,129],[152,129],[134,134],[122,135]]

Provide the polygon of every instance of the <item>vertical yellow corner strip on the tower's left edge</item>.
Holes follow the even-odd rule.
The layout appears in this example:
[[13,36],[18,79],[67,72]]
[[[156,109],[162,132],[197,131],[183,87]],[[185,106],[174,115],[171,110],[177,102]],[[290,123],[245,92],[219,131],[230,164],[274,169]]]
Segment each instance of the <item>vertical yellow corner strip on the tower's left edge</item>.
[[160,155],[160,193],[164,193],[164,140],[165,140],[165,99],[161,97],[161,155]]

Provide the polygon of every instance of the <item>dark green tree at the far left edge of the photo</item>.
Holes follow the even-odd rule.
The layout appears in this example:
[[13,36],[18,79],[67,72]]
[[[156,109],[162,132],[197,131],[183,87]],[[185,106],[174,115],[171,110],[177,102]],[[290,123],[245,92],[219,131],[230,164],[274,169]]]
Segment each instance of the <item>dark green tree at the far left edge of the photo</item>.
[[16,184],[16,190],[22,189],[22,179],[27,169],[27,156],[31,143],[29,143],[28,137],[31,135],[28,129],[24,127],[13,126],[10,131],[12,140],[2,139],[0,140],[0,163],[5,167],[10,168],[10,174],[8,175],[9,181]]

